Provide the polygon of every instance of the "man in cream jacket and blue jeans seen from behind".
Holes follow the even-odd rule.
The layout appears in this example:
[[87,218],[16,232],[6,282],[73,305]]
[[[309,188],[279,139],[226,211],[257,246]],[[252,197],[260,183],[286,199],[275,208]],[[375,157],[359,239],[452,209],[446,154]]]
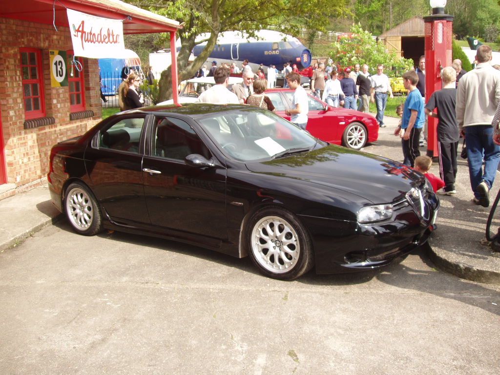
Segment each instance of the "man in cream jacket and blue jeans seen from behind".
[[[500,160],[500,146],[493,142],[491,121],[500,102],[500,71],[491,66],[491,47],[480,45],[478,64],[460,79],[456,91],[456,120],[465,136],[472,202],[489,206],[489,190]],[[484,158],[484,171],[482,160]]]

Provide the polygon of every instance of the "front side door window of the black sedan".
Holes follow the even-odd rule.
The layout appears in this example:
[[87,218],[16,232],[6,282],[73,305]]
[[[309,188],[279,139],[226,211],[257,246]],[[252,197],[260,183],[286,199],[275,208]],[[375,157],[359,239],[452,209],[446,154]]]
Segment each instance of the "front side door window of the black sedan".
[[187,155],[198,153],[207,159],[210,151],[193,128],[175,117],[155,117],[153,156],[184,160]]

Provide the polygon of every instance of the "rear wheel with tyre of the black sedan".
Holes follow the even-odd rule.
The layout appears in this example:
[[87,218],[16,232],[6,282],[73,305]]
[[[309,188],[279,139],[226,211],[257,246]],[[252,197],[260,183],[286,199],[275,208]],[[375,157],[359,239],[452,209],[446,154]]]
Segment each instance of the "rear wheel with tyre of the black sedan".
[[71,183],[64,197],[66,216],[73,229],[83,235],[94,235],[102,229],[99,205],[88,187]]

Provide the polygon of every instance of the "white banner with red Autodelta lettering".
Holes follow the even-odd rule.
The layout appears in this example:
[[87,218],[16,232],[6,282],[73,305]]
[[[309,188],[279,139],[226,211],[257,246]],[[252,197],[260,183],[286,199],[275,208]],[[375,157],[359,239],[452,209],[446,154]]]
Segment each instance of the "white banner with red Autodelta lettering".
[[67,19],[75,56],[120,58],[126,54],[122,20],[96,17],[72,9],[67,9]]

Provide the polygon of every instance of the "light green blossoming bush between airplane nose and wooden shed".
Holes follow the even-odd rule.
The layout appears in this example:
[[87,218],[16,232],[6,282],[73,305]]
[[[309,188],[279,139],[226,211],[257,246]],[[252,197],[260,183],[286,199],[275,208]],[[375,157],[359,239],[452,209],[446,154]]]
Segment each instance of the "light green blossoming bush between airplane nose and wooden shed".
[[350,32],[352,36],[343,36],[331,45],[329,55],[335,64],[342,67],[352,66],[355,63],[367,64],[371,74],[376,73],[378,64],[383,64],[384,73],[389,77],[401,76],[413,66],[411,59],[385,50],[384,45],[378,43],[370,32],[364,31],[360,24],[353,25]]

